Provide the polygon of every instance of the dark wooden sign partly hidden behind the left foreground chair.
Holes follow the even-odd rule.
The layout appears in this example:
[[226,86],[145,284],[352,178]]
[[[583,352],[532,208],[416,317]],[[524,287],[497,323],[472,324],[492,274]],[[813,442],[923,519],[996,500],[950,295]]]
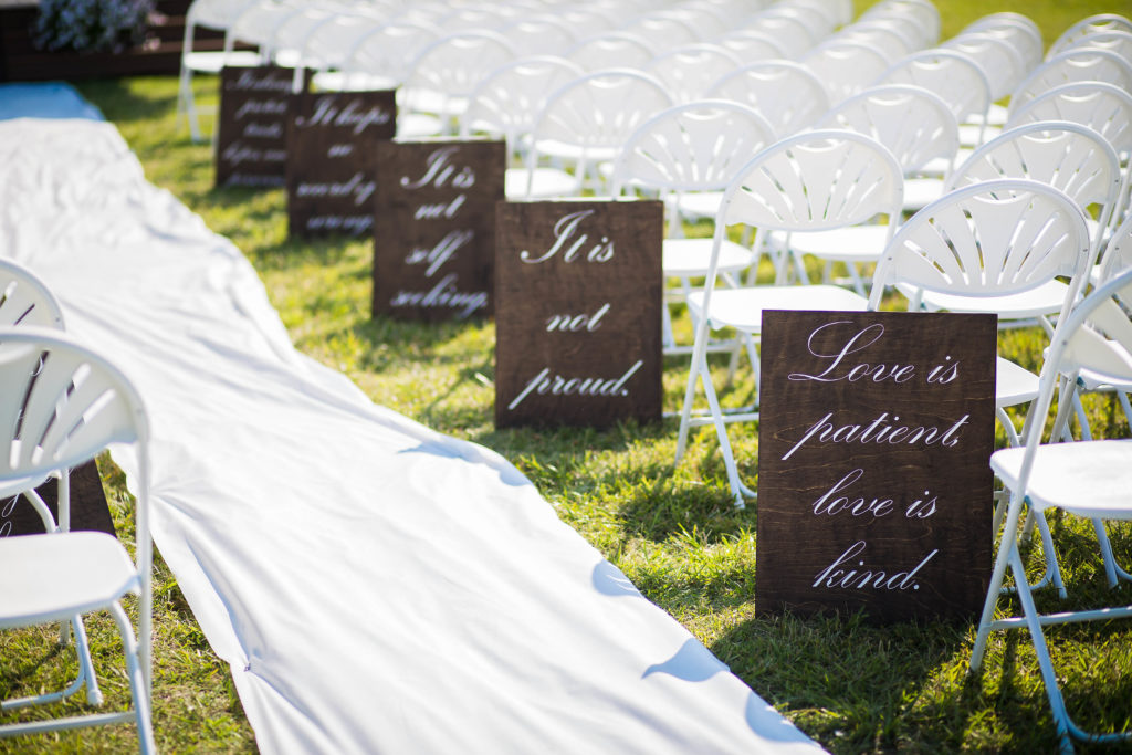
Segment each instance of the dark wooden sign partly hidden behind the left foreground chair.
[[[50,479],[36,492],[59,521],[59,482]],[[106,506],[106,495],[102,490],[102,478],[93,461],[76,466],[70,473],[70,529],[96,530],[114,534],[114,522]],[[23,495],[0,498],[0,538],[44,532],[43,520]]]

